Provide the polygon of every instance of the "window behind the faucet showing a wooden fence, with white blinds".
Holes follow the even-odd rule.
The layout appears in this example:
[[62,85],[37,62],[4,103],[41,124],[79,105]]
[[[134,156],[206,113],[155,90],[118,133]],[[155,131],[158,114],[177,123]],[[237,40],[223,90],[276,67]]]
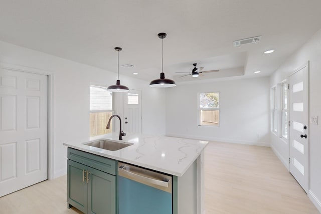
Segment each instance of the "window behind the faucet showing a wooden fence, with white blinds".
[[113,114],[112,92],[99,86],[90,86],[89,90],[90,137],[112,133],[112,125],[106,129]]

